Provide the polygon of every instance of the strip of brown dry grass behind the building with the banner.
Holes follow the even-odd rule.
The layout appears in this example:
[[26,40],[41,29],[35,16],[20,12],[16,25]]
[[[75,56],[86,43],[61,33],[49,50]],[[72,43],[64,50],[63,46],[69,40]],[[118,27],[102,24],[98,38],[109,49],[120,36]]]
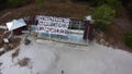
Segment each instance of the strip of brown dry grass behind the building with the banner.
[[88,4],[73,2],[44,2],[42,4],[32,3],[19,9],[8,9],[0,12],[0,16],[9,13],[8,16],[0,21],[0,24],[7,23],[14,18],[24,17],[32,14],[44,14],[53,16],[77,17],[84,18],[89,13]]

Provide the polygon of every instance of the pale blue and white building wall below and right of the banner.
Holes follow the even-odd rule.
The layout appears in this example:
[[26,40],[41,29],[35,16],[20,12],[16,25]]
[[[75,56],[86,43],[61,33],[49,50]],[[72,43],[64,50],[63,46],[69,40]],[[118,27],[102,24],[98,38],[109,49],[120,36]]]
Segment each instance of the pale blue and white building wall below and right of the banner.
[[[74,21],[69,24],[68,34],[66,35],[57,35],[57,34],[48,34],[44,32],[38,32],[36,25],[32,25],[31,29],[37,32],[42,37],[51,37],[51,38],[61,38],[61,39],[70,39],[75,41],[81,41],[84,36],[82,23],[80,21]],[[73,29],[74,28],[74,29]]]

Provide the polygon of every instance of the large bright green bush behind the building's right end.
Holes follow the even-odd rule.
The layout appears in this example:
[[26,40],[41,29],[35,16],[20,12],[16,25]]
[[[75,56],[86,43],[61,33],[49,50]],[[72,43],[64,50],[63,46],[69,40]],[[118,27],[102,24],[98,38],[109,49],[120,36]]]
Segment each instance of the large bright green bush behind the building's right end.
[[91,13],[96,28],[99,30],[105,30],[106,26],[111,24],[116,16],[116,11],[112,10],[109,5],[103,4],[95,9]]

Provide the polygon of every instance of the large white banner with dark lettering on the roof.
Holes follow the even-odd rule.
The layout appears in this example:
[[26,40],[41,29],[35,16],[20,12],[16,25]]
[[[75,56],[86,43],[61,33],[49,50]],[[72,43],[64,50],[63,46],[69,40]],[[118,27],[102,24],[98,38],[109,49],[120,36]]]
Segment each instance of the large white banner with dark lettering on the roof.
[[50,34],[66,35],[70,20],[65,17],[37,15],[38,30]]

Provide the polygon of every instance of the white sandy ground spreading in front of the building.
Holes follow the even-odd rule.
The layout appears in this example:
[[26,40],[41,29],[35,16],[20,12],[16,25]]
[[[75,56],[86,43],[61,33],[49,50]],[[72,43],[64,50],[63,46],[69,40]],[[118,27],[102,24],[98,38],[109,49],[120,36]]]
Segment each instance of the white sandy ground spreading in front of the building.
[[[19,57],[12,60],[9,51],[0,57],[1,74],[132,74],[132,53],[96,42],[88,47],[48,40],[20,46]],[[30,58],[28,66],[19,60]]]

